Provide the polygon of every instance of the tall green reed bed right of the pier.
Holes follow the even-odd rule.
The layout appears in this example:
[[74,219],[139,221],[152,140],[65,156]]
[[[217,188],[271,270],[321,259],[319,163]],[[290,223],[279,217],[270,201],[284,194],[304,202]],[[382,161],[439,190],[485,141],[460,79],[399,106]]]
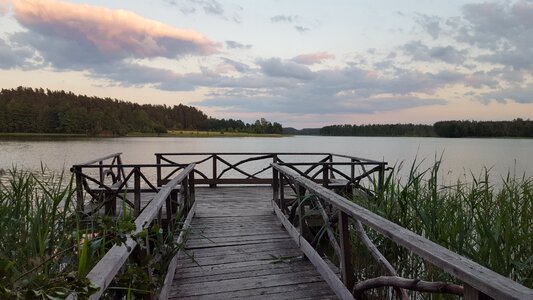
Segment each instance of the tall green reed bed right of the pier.
[[[533,287],[533,180],[511,174],[498,180],[485,170],[455,184],[439,182],[440,161],[408,178],[401,164],[389,173],[382,196],[353,201],[460,255],[529,288]],[[493,183],[491,183],[491,180]],[[449,275],[367,228],[370,237],[400,276],[453,281]],[[355,258],[358,280],[380,274],[364,247]],[[369,263],[370,262],[370,263]]]

